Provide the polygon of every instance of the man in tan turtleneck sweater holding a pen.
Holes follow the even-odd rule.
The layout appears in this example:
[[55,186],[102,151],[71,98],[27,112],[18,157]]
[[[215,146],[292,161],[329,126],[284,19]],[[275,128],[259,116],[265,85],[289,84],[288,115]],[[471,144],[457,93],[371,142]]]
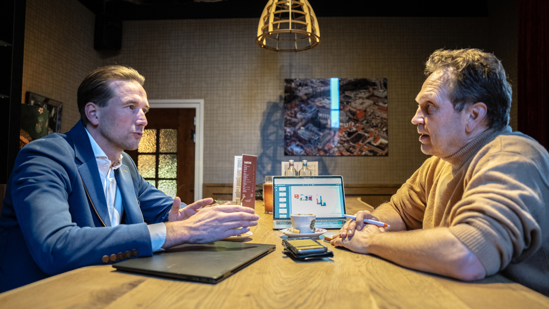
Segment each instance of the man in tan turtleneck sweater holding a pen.
[[549,296],[549,154],[508,126],[501,62],[478,49],[440,49],[425,73],[412,123],[432,157],[332,244],[462,280],[501,272]]

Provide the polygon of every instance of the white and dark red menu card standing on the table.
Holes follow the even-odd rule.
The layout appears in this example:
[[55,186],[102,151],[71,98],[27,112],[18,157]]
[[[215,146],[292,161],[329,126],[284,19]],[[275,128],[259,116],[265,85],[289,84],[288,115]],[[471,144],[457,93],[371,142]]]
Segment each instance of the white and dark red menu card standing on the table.
[[234,156],[233,201],[242,201],[242,206],[255,208],[255,174],[257,156],[242,154]]

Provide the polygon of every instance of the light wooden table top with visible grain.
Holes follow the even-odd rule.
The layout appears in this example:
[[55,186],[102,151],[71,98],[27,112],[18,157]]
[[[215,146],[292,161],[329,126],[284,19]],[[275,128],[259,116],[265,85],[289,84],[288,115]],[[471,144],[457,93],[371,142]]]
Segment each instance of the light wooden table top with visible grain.
[[[349,213],[363,204],[346,201]],[[90,266],[0,294],[2,308],[549,308],[549,298],[496,274],[460,282],[398,266],[371,255],[336,249],[320,262],[283,255],[287,236],[256,201],[252,243],[276,251],[211,285],[161,279]],[[333,234],[329,230],[327,234]]]

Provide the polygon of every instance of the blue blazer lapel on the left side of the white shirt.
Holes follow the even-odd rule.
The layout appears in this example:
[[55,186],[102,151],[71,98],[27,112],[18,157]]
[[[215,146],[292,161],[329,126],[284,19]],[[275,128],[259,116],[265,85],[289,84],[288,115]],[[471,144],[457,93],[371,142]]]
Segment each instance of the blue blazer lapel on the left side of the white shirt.
[[97,168],[96,157],[93,154],[92,144],[89,142],[88,134],[82,122],[79,120],[67,135],[70,135],[72,145],[74,145],[77,161],[82,162],[78,167],[78,172],[82,177],[82,182],[89,194],[89,198],[92,200],[93,207],[105,226],[110,227],[107,198],[105,198],[105,192],[101,184],[101,177],[99,176],[99,169]]

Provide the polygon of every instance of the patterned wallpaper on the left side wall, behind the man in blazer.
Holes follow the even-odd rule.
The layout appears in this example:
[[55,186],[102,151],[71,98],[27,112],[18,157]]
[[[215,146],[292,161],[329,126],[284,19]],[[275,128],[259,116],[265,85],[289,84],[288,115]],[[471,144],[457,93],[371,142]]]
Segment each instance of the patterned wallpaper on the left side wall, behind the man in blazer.
[[63,102],[61,131],[80,119],[76,90],[100,67],[93,49],[95,14],[77,0],[27,0],[23,101],[27,91]]

